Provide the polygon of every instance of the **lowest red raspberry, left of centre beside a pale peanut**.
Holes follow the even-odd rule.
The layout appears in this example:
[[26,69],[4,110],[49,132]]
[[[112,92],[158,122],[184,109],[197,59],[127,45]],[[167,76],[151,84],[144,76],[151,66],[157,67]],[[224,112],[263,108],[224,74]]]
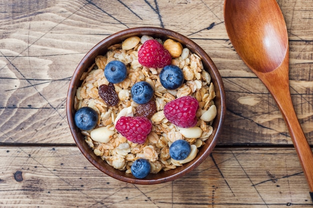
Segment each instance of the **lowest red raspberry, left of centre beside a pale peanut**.
[[122,116],[118,119],[115,129],[127,140],[136,144],[143,144],[150,133],[152,123],[142,116]]

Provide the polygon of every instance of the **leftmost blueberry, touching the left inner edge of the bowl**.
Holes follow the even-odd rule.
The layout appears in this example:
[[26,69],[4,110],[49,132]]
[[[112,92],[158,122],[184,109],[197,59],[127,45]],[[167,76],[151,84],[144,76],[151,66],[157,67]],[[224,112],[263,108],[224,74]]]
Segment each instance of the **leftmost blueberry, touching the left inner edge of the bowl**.
[[98,114],[90,107],[82,107],[75,113],[75,125],[81,130],[93,129],[98,121]]

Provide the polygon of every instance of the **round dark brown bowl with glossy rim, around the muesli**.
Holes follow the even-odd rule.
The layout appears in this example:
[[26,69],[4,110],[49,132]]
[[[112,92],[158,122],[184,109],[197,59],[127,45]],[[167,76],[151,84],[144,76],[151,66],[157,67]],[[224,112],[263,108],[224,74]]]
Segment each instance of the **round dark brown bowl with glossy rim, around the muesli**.
[[[153,37],[167,39],[171,38],[175,41],[179,41],[182,45],[189,48],[189,50],[193,53],[196,53],[201,59],[204,66],[204,69],[208,71],[211,75],[211,80],[215,87],[216,97],[214,98],[214,103],[217,107],[217,116],[213,121],[213,133],[207,140],[207,143],[204,144],[202,147],[199,148],[199,152],[195,159],[191,162],[183,164],[181,167],[177,167],[174,170],[169,171],[161,171],[158,174],[149,174],[144,179],[136,179],[131,174],[126,174],[125,171],[119,171],[114,169],[113,167],[109,166],[105,161],[103,161],[100,157],[96,156],[92,149],[87,145],[84,141],[84,136],[80,133],[80,130],[75,126],[74,123],[74,96],[76,93],[77,87],[80,86],[81,81],[79,80],[81,74],[88,69],[94,63],[94,59],[97,55],[103,55],[106,53],[107,48],[110,45],[120,43],[124,39],[130,36],[142,36],[142,35],[150,35]],[[172,181],[177,179],[186,173],[190,172],[201,162],[205,160],[205,158],[211,153],[213,148],[215,147],[216,141],[218,136],[221,133],[221,127],[224,121],[224,116],[226,112],[225,107],[225,93],[224,87],[222,83],[222,79],[218,70],[216,69],[214,63],[210,59],[210,57],[205,53],[205,51],[194,43],[192,40],[188,39],[187,37],[163,28],[156,28],[156,27],[137,27],[137,28],[130,28],[126,30],[119,31],[115,34],[108,36],[107,38],[100,41],[96,44],[80,61],[76,70],[73,73],[73,76],[69,83],[69,89],[67,93],[67,100],[66,100],[66,114],[68,125],[71,131],[71,134],[74,138],[74,141],[81,151],[81,153],[87,158],[87,160],[94,165],[97,169],[102,171],[103,173],[111,176],[115,179],[120,181],[133,183],[133,184],[159,184],[168,181]],[[208,142],[211,141],[211,142]]]

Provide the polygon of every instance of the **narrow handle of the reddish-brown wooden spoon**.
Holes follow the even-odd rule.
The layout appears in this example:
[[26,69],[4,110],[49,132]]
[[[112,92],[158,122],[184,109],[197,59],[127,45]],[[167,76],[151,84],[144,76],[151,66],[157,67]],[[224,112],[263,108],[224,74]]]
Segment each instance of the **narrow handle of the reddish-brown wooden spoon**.
[[288,127],[293,146],[309,187],[310,197],[313,201],[313,153],[292,105],[286,67],[288,67],[287,59],[275,70],[258,74],[258,77],[273,96]]

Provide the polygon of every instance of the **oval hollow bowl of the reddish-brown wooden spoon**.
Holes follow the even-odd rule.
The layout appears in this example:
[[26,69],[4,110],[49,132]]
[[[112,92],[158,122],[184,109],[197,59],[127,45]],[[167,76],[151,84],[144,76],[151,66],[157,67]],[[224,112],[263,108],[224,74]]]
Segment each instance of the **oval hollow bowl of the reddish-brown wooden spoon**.
[[[237,53],[256,71],[269,72],[276,69],[288,53],[287,29],[282,13],[277,12],[277,6],[274,5],[276,2],[268,1],[265,4],[260,0],[227,0],[225,3],[225,8],[230,10],[224,13],[225,24],[228,27],[230,22],[226,22],[226,19],[231,19],[229,27],[233,32],[228,35]],[[249,15],[243,15],[247,13]],[[263,18],[266,21],[259,21]]]

